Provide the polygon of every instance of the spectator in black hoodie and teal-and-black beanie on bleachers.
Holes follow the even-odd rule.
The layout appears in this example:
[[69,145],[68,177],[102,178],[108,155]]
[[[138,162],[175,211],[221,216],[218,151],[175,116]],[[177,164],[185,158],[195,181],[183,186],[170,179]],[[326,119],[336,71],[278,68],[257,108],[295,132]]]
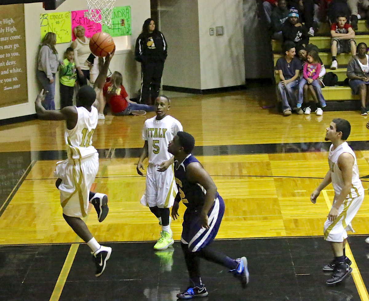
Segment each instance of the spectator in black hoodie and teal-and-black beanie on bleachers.
[[282,27],[283,43],[291,41],[296,48],[301,45],[305,47],[305,45],[309,44],[307,29],[303,24],[299,23],[298,20],[299,13],[297,9],[292,7]]

